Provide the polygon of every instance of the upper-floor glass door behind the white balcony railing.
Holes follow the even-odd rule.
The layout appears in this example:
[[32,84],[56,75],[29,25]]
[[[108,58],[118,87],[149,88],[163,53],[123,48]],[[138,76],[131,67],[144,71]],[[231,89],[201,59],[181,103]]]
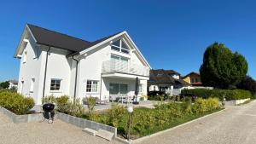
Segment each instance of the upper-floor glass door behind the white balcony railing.
[[111,55],[111,69],[114,72],[125,72],[128,73],[128,59],[119,56],[119,55]]

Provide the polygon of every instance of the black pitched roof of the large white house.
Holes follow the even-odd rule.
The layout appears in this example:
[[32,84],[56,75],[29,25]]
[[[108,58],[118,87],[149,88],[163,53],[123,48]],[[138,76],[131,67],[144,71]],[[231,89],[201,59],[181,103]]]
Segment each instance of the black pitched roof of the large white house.
[[101,43],[109,37],[113,37],[114,35],[118,34],[116,33],[108,37],[103,37],[99,40],[96,40],[95,42],[89,42],[77,37],[62,34],[60,32],[54,32],[43,27],[34,26],[31,24],[27,24],[27,26],[31,30],[32,35],[37,40],[37,43],[59,49],[67,49],[72,51],[73,53],[88,49],[91,46],[97,43]]

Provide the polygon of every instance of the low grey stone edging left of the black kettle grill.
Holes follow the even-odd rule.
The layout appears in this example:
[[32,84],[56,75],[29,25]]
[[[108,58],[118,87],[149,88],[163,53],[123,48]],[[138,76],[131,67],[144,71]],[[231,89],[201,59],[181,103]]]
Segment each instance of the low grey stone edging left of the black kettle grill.
[[3,112],[16,124],[39,122],[43,119],[42,113],[17,115],[14,112],[10,112],[8,109],[1,107],[1,106],[0,106],[0,112]]

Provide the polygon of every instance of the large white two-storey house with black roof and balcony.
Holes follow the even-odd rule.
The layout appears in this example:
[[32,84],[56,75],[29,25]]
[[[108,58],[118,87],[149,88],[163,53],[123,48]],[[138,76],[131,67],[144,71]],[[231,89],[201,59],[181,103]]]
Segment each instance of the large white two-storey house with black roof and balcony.
[[45,95],[132,96],[136,78],[147,95],[150,66],[127,32],[89,42],[27,24],[15,51],[18,92],[41,104]]

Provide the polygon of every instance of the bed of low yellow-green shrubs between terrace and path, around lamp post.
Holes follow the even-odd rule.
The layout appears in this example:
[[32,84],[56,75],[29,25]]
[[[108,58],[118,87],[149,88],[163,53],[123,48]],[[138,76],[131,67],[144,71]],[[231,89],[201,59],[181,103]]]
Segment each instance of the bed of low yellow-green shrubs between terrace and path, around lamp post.
[[[166,130],[177,124],[183,124],[194,118],[199,118],[209,112],[221,109],[218,98],[197,99],[192,105],[190,99],[184,102],[167,102],[155,105],[154,109],[138,107],[131,113],[131,138],[150,135],[157,131]],[[126,107],[113,105],[105,112],[94,112],[84,117],[102,124],[118,128],[119,135],[126,138],[128,132]],[[91,118],[92,117],[92,118]]]

